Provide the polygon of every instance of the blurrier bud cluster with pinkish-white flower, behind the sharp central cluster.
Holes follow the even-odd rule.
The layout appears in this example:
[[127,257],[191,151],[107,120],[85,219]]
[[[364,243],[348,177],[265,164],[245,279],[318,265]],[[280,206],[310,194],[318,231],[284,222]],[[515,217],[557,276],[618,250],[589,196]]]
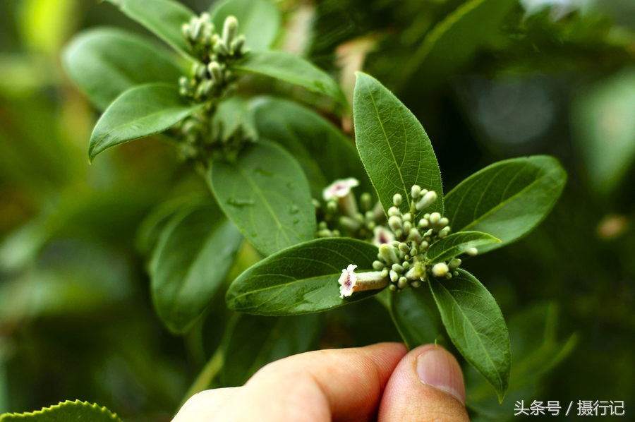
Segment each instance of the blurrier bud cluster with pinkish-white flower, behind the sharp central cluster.
[[370,193],[362,193],[359,200],[353,195],[352,188],[358,185],[359,181],[352,177],[334,181],[322,192],[325,204],[314,201],[318,237],[347,236],[365,241],[381,238],[381,242],[375,241],[377,246],[393,239],[392,232],[378,226],[385,219],[381,204],[373,205]]

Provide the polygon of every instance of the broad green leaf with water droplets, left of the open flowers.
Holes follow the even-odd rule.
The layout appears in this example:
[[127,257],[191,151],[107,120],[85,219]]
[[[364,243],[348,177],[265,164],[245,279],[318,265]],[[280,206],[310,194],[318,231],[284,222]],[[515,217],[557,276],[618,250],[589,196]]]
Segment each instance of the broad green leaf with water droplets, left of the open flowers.
[[264,255],[315,236],[308,182],[281,147],[259,140],[236,162],[214,160],[209,179],[225,214]]

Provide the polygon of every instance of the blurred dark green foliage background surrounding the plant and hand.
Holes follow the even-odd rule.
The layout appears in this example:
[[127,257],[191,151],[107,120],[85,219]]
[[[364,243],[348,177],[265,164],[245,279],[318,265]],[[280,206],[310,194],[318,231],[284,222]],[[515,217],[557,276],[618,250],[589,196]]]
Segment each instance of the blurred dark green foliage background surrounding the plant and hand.
[[[475,24],[478,54],[461,57],[473,41],[461,33],[423,59],[425,35],[463,1],[277,3],[286,28],[279,47],[332,72],[349,94],[363,68],[413,111],[446,191],[499,159],[562,161],[569,183],[550,217],[466,270],[500,304],[516,356],[531,348],[523,339],[545,335],[540,353],[569,339],[531,394],[625,400],[622,420],[635,420],[635,3],[521,0],[497,11],[495,30]],[[218,303],[195,334],[169,334],[152,309],[135,233],[152,208],[207,188],[156,138],[88,164],[98,114],[59,54],[94,25],[145,33],[92,0],[0,1],[0,414],[82,399],[126,421],[169,421],[229,316]],[[452,60],[460,71],[444,68]],[[341,124],[350,131],[348,118]],[[324,317],[319,346],[399,339],[378,303],[350,308]],[[548,315],[547,327],[528,323],[532,313]],[[362,314],[371,321],[361,324]]]

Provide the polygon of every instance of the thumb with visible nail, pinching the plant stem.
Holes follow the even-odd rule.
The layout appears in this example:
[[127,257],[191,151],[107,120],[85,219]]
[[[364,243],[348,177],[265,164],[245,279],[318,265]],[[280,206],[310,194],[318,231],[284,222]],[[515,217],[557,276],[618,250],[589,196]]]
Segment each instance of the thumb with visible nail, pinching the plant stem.
[[378,421],[466,422],[461,367],[435,344],[411,350],[394,369],[382,396]]

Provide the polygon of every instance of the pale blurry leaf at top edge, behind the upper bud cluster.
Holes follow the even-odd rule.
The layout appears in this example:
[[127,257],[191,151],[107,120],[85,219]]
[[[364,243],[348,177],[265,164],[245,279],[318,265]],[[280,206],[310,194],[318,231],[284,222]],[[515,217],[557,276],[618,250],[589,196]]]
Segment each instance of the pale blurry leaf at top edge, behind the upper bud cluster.
[[276,39],[282,16],[269,0],[227,0],[212,6],[212,23],[222,31],[225,18],[238,19],[238,34],[245,35],[246,46],[254,52],[266,50]]

